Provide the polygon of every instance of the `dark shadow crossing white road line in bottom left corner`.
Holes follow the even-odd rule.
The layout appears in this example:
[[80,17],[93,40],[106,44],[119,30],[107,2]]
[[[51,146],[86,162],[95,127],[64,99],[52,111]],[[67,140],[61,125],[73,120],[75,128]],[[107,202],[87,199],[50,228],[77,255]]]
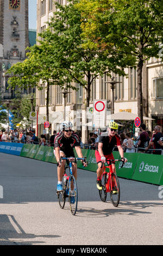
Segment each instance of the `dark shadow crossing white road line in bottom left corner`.
[[[60,237],[60,235],[35,235],[24,232],[13,215],[0,215],[0,245],[34,245],[44,241],[26,241],[37,237]],[[23,239],[25,239],[23,241]]]

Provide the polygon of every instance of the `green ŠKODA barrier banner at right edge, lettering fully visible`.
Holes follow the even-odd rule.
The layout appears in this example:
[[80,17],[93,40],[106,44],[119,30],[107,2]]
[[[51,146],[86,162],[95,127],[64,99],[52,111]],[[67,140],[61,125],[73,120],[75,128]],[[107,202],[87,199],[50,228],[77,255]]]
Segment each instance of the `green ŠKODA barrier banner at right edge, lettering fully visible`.
[[[131,153],[130,153],[131,154]],[[162,180],[163,156],[139,154],[133,180],[160,184]]]

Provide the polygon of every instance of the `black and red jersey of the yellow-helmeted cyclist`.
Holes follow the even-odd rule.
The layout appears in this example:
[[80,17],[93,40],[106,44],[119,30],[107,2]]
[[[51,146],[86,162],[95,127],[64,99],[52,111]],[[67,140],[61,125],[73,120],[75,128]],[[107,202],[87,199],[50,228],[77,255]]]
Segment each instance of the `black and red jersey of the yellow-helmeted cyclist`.
[[[112,137],[111,141],[110,141],[110,137],[108,135],[108,132],[103,132],[101,134],[101,136],[99,136],[99,142],[103,143],[103,153],[104,155],[109,155],[112,153],[112,150],[114,149],[114,146],[120,146],[121,145],[121,141],[120,141],[120,136],[115,134],[115,136]],[[98,145],[96,146],[96,150],[98,151]]]

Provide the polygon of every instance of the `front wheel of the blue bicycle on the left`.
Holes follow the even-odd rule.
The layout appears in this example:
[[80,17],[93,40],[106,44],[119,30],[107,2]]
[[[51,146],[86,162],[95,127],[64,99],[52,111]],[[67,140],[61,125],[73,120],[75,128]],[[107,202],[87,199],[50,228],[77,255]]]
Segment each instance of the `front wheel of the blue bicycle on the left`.
[[72,215],[75,215],[77,212],[77,206],[78,206],[78,188],[77,188],[77,182],[74,176],[72,175],[70,177],[70,186],[71,189],[69,190],[69,202],[70,202],[70,209]]

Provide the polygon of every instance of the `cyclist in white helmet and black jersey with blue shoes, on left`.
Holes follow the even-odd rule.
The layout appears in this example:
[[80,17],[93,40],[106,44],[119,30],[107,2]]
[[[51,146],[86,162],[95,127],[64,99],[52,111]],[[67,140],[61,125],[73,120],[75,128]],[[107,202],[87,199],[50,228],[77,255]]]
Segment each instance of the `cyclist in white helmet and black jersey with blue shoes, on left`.
[[[54,155],[57,160],[57,173],[58,173],[58,184],[57,191],[62,191],[62,176],[64,175],[65,170],[65,160],[60,162],[60,157],[74,157],[73,148],[76,149],[78,157],[83,157],[82,150],[80,148],[80,139],[72,131],[73,125],[70,121],[64,121],[61,123],[61,132],[59,132],[54,139]],[[83,162],[83,166],[86,166],[87,163]],[[77,179],[77,163],[73,163],[73,175]]]

